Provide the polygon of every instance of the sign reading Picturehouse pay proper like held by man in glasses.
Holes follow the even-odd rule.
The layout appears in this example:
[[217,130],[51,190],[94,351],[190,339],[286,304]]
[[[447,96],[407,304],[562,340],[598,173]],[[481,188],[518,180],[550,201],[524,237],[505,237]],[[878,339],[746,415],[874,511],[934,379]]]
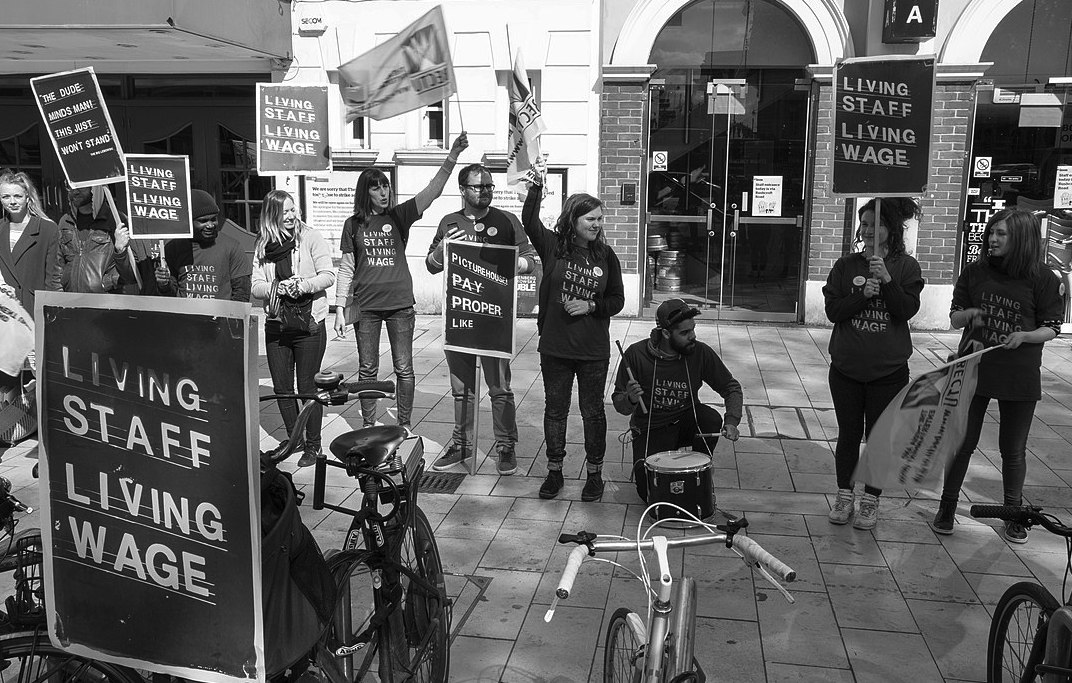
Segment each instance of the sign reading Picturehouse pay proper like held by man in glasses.
[[512,358],[518,248],[451,239],[444,262],[443,347]]

